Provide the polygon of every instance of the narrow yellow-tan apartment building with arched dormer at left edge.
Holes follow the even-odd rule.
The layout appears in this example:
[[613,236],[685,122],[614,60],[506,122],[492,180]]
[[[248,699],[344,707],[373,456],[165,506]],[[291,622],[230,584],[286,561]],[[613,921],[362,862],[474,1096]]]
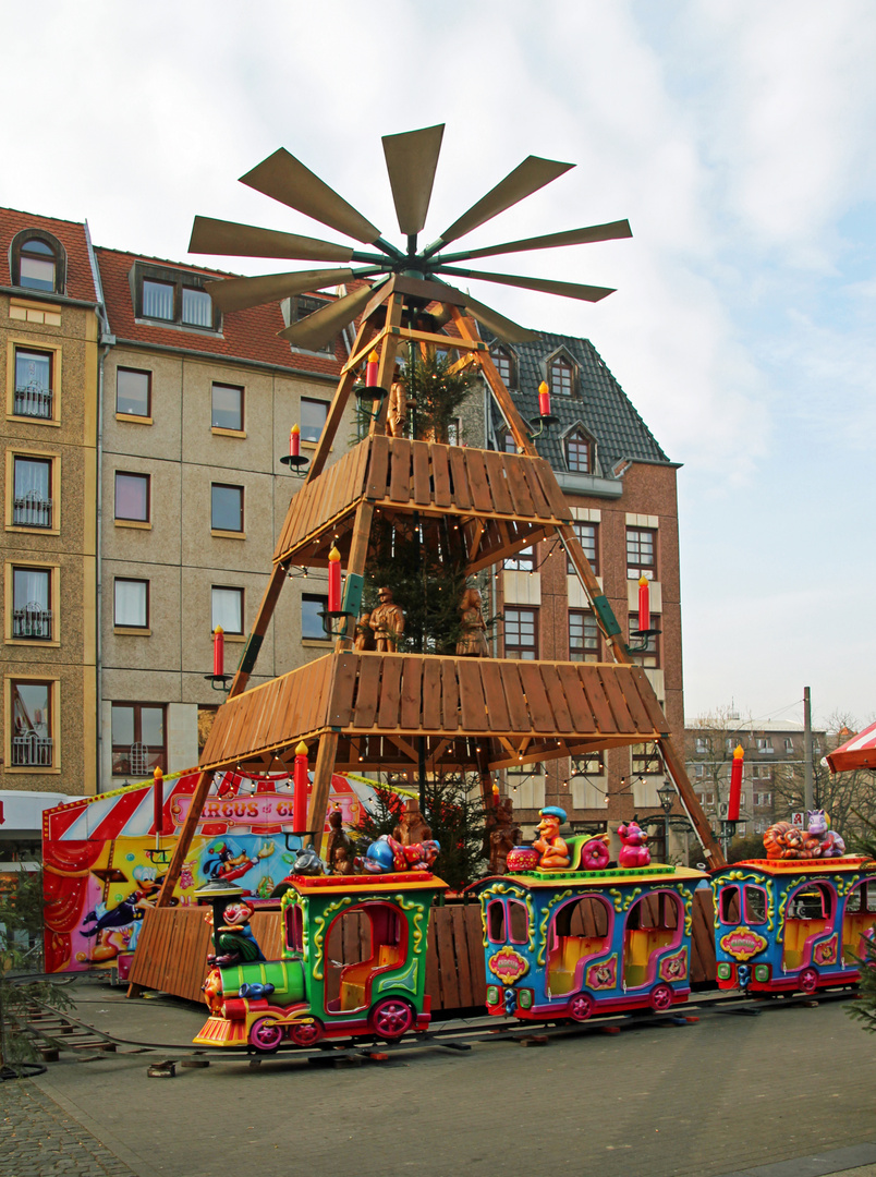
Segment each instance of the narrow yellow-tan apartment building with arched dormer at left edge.
[[99,301],[86,224],[0,210],[0,790],[97,787]]

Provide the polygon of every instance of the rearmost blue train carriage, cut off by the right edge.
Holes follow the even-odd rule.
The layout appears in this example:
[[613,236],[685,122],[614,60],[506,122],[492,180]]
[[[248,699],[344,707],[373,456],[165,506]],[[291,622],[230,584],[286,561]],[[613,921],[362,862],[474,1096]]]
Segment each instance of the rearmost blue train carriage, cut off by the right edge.
[[876,924],[876,863],[867,858],[763,858],[715,872],[721,989],[815,993],[860,979]]

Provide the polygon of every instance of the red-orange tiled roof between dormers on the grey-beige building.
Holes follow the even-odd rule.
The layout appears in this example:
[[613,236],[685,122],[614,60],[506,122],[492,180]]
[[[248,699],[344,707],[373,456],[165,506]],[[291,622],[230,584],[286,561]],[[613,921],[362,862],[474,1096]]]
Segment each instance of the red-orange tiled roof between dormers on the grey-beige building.
[[[94,252],[98,257],[100,280],[104,286],[104,299],[107,318],[110,319],[110,330],[117,338],[135,340],[142,344],[157,344],[161,347],[206,352],[212,355],[227,355],[230,359],[257,360],[261,364],[276,365],[277,367],[319,372],[336,378],[340,375],[341,364],[346,360],[340,340],[336,345],[337,354],[331,357],[327,353],[293,352],[285,339],[277,338],[277,333],[286,326],[283,321],[279,302],[254,306],[248,311],[230,311],[225,313],[223,315],[220,334],[206,331],[187,331],[177,326],[165,327],[155,322],[138,321],[134,318],[128,274],[138,261],[190,274],[207,274],[210,278],[235,278],[238,277],[237,274],[210,270],[206,266],[165,261],[162,258],[124,253],[119,250],[98,247]],[[332,295],[325,291],[320,291],[317,297],[331,298]]]

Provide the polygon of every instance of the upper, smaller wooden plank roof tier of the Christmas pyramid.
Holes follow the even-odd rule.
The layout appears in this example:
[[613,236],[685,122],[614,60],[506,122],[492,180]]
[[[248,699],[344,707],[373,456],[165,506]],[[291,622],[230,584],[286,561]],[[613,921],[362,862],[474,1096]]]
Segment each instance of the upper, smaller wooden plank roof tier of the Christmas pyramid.
[[363,499],[384,518],[416,513],[426,526],[430,519],[450,518],[460,528],[469,574],[572,518],[542,458],[376,434],[293,497],[274,564],[325,565],[332,543],[346,557]]

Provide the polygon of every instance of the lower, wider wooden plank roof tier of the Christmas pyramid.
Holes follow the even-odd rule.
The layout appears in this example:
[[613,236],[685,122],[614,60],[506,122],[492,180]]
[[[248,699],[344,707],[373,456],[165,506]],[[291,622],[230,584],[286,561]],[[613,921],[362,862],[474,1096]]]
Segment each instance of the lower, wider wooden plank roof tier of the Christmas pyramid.
[[336,651],[246,691],[217,713],[201,767],[290,757],[339,736],[336,771],[491,769],[668,734],[639,666]]

